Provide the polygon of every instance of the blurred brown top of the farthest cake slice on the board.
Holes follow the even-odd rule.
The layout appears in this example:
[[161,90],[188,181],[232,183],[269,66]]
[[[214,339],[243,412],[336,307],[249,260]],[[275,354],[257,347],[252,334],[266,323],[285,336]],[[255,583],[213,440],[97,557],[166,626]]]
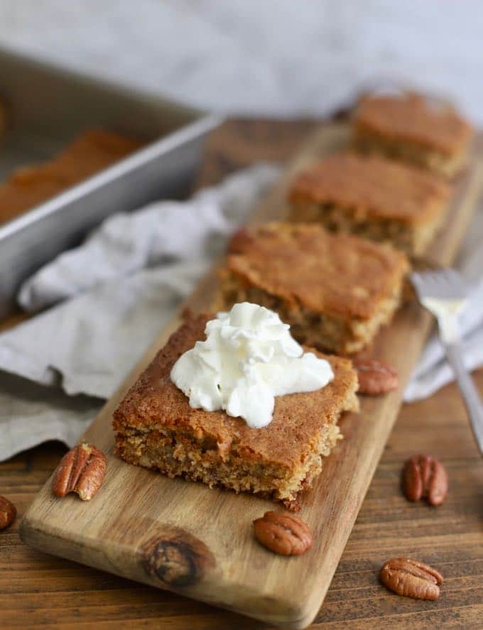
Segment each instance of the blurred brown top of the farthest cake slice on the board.
[[354,122],[394,140],[412,141],[452,155],[465,147],[472,128],[452,107],[418,94],[364,97]]

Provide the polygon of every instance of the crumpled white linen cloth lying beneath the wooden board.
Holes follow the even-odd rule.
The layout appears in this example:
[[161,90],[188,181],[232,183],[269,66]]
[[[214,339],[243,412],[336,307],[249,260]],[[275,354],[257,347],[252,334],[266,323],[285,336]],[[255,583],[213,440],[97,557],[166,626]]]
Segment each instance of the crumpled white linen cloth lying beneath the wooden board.
[[[46,439],[75,442],[278,173],[256,165],[186,202],[114,214],[23,284],[24,308],[50,308],[0,335],[0,460]],[[461,261],[479,281],[462,317],[470,369],[483,363],[482,237],[480,212]],[[405,399],[451,379],[433,338]]]

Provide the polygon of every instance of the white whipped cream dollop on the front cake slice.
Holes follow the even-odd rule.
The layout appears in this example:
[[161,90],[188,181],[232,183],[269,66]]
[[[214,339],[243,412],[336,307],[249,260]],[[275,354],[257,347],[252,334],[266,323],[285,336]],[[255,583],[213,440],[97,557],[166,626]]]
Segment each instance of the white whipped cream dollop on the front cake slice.
[[206,340],[182,354],[171,380],[192,408],[223,409],[252,428],[268,425],[275,396],[315,391],[334,378],[330,363],[303,352],[277,313],[243,302],[207,322]]

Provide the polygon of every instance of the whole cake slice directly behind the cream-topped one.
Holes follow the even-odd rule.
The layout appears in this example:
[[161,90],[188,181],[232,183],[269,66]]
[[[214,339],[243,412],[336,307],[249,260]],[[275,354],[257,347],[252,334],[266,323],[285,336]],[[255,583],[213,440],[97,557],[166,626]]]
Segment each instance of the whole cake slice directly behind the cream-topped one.
[[291,325],[300,343],[357,352],[389,322],[401,299],[406,256],[393,247],[316,224],[271,223],[232,239],[223,308],[253,302]]

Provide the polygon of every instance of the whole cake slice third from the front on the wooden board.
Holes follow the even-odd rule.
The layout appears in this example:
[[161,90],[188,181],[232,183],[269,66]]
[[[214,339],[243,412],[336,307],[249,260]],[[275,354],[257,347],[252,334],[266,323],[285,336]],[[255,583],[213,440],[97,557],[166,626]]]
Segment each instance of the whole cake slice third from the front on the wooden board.
[[339,153],[295,178],[290,220],[318,222],[332,232],[391,241],[422,254],[440,227],[449,186],[425,173],[377,156]]

